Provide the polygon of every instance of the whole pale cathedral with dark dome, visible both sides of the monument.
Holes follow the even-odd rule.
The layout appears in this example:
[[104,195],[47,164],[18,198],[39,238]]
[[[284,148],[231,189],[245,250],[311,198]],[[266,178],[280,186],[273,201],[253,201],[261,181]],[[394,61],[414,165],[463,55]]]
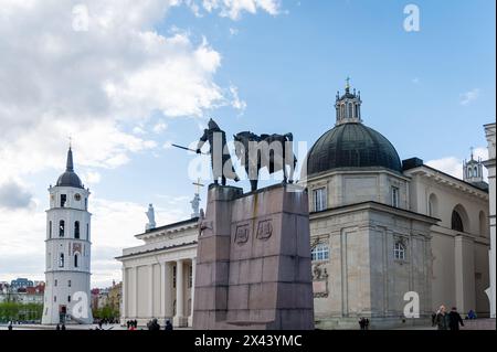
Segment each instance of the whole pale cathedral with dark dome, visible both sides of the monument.
[[[309,193],[316,328],[357,329],[362,317],[371,329],[426,324],[441,305],[488,316],[483,162],[472,157],[461,180],[419,158],[401,161],[364,125],[361,104],[348,84],[337,94],[335,126],[310,148],[299,181]],[[191,327],[198,218],[136,237],[145,243],[117,258],[121,321]],[[417,319],[404,316],[410,302]]]

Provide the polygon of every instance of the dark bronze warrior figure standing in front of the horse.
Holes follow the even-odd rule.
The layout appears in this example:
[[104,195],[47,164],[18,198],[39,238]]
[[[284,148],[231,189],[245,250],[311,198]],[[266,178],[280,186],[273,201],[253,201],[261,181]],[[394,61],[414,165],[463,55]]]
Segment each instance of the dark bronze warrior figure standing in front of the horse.
[[214,122],[211,118],[208,124],[208,129],[204,129],[203,136],[200,137],[197,145],[197,153],[200,153],[202,146],[209,141],[212,174],[214,178],[214,184],[219,184],[221,178],[221,184],[226,185],[226,179],[240,181],[236,172],[234,171],[233,163],[231,161],[230,150],[226,145],[226,134]]

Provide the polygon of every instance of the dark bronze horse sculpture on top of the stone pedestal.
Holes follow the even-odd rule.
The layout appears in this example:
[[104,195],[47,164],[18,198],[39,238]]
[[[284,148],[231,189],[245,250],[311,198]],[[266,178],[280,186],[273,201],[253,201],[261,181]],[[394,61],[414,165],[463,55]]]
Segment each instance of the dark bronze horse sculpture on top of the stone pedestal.
[[297,158],[292,148],[292,134],[257,136],[243,131],[233,137],[236,157],[245,168],[252,191],[257,190],[258,172],[263,168],[267,168],[269,174],[283,170],[283,183],[293,183]]

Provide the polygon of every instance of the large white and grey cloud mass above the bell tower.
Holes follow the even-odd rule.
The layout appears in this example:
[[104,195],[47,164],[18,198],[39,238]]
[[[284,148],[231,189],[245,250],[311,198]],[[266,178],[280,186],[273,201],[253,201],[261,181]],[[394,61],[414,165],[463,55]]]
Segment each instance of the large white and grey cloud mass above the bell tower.
[[[84,32],[72,30],[72,3],[0,8],[0,82],[9,82],[0,85],[3,180],[60,168],[70,135],[80,166],[119,167],[155,148],[139,137],[151,111],[200,116],[229,104],[213,82],[221,55],[207,40],[152,32],[179,1],[85,1]],[[133,135],[121,128],[129,120]]]

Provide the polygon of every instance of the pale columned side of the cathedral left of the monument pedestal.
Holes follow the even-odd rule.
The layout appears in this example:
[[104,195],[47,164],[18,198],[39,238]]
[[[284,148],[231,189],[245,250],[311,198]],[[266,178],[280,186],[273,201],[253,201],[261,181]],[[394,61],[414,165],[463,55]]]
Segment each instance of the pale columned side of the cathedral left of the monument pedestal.
[[198,218],[152,228],[136,235],[145,242],[125,248],[120,322],[137,320],[146,326],[152,318],[191,327],[192,286],[195,275]]

